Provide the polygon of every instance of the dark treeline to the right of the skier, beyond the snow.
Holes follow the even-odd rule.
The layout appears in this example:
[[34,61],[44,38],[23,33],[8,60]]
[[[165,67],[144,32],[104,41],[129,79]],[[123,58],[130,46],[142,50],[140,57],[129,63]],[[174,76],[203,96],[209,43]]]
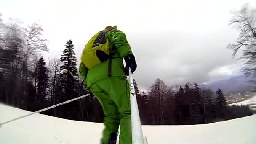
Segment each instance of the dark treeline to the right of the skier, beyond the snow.
[[141,123],[202,124],[252,115],[248,106],[228,106],[220,88],[214,93],[211,89],[200,89],[197,83],[187,83],[176,89],[157,79],[148,94],[138,93]]

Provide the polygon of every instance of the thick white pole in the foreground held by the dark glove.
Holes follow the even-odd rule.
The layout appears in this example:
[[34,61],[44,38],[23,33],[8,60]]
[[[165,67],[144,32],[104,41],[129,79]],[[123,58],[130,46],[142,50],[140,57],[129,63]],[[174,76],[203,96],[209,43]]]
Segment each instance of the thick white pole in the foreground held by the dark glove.
[[129,83],[130,83],[130,100],[131,100],[131,128],[133,144],[144,144],[143,133],[141,129],[141,121],[139,117],[139,109],[136,99],[136,94],[133,85],[133,77],[131,68],[129,68]]

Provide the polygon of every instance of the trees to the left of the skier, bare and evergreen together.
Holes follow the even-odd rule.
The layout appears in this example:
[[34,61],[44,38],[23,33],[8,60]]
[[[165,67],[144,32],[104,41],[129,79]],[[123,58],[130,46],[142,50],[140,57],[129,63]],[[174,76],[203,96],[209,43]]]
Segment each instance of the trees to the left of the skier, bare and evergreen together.
[[[63,46],[59,59],[46,62],[42,52],[48,51],[48,40],[42,34],[37,23],[25,27],[21,21],[10,18],[4,22],[0,17],[0,102],[37,111],[88,93],[78,76],[72,40]],[[42,113],[80,121],[103,119],[100,104],[93,97]]]

